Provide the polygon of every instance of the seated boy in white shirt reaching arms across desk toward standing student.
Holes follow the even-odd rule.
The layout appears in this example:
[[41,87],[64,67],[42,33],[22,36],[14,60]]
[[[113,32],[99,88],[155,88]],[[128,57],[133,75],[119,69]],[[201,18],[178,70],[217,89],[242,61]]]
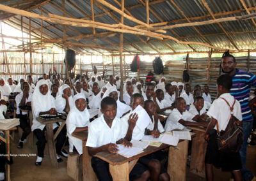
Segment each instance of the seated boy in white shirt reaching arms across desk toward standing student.
[[[186,101],[184,98],[176,98],[175,109],[168,116],[166,124],[164,126],[165,131],[172,131],[173,129],[185,129],[186,126],[204,126],[207,127],[208,122],[205,122],[203,116],[192,115],[186,110]],[[194,122],[195,120],[196,122]]]

